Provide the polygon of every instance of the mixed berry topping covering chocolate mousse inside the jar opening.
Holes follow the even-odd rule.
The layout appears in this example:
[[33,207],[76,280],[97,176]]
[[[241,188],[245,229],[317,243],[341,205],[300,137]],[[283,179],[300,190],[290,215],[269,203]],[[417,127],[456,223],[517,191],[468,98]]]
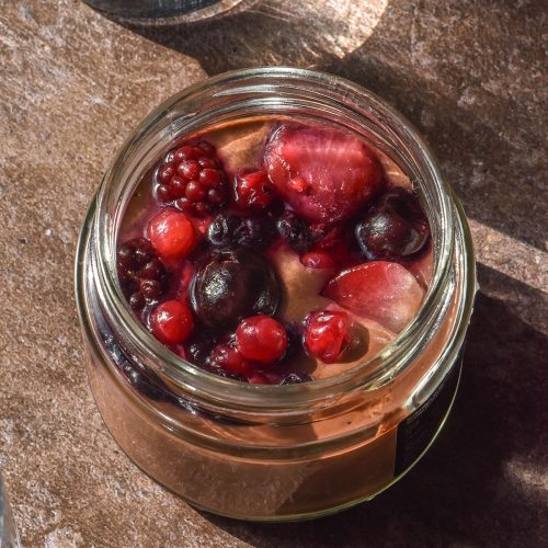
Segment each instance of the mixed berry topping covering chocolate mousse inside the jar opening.
[[414,317],[431,264],[401,169],[351,133],[283,117],[174,142],[118,235],[124,294],[152,335],[252,384],[369,359]]

